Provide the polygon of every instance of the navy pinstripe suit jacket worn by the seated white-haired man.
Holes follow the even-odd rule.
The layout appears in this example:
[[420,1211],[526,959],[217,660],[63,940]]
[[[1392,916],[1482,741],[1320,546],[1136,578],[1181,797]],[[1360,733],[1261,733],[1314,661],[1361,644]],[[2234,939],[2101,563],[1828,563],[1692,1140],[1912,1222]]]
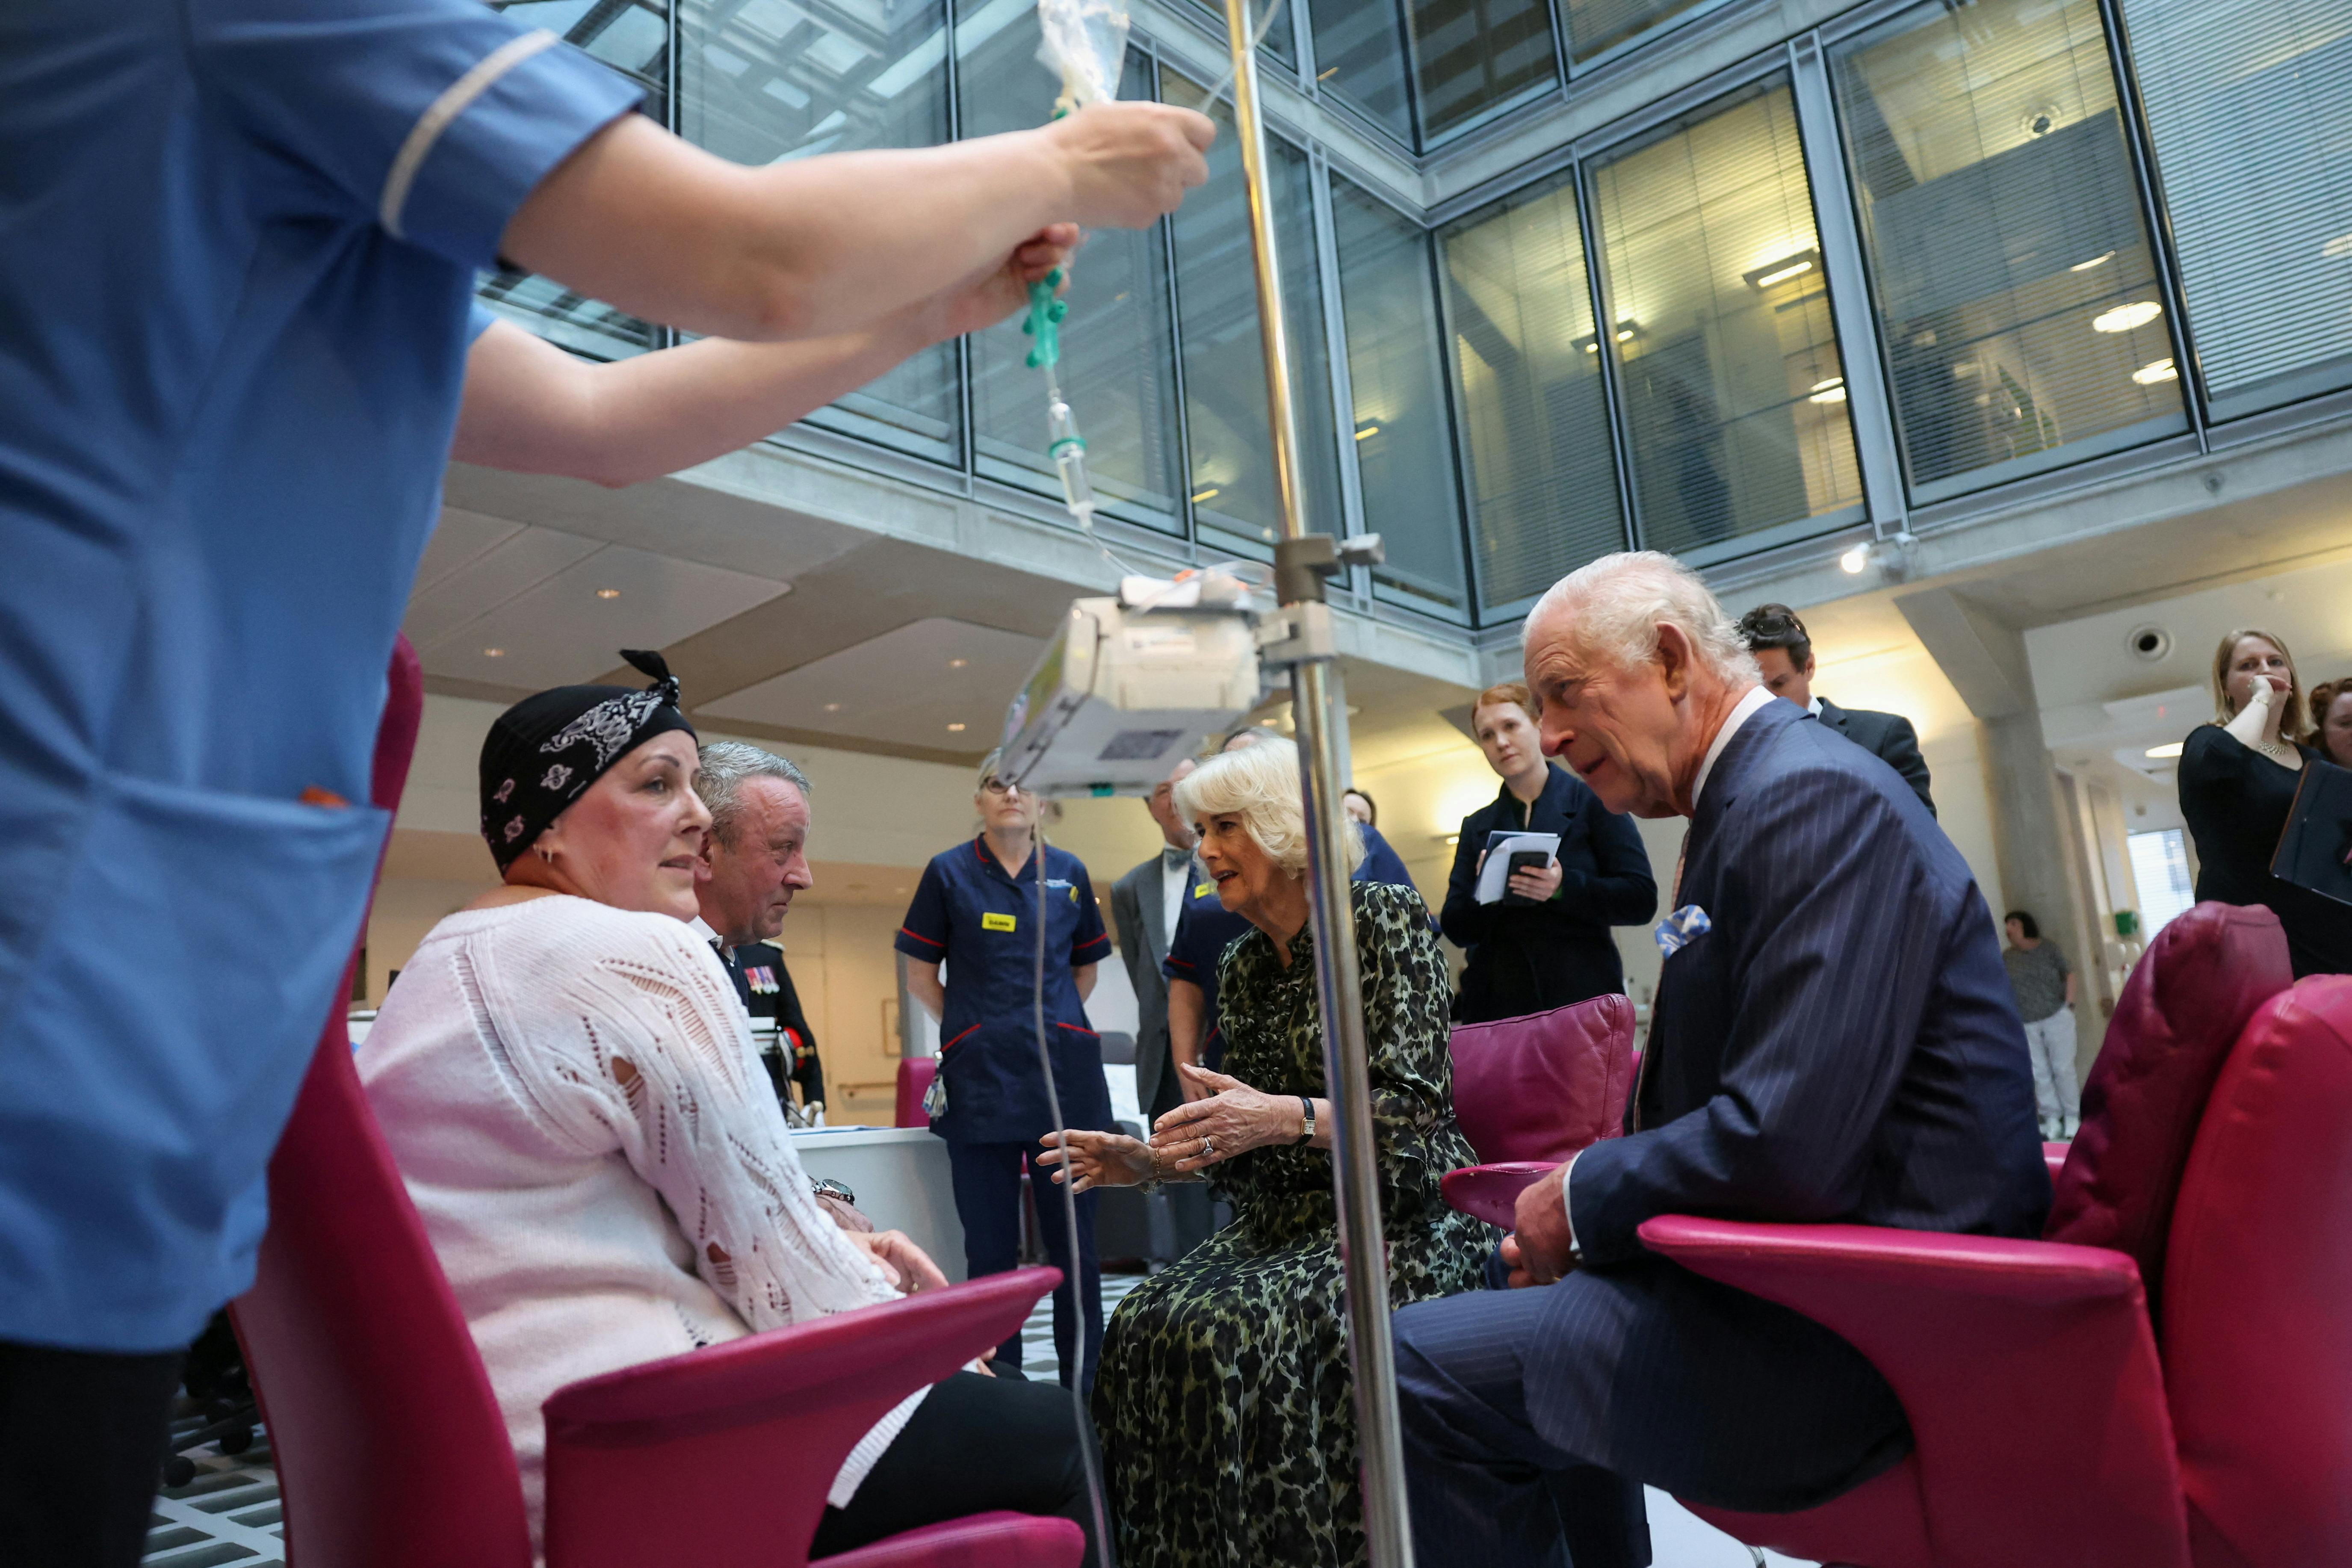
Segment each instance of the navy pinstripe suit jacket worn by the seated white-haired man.
[[1625,1138],[1569,1180],[1590,1262],[1658,1213],[2034,1237],[2025,1030],[1969,865],[1919,799],[1790,703],[1724,748]]

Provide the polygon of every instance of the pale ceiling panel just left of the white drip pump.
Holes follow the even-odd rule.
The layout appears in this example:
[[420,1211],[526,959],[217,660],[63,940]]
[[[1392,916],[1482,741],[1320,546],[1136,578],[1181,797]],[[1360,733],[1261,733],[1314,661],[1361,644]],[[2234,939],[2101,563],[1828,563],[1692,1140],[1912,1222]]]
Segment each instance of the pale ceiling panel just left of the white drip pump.
[[[931,616],[811,658],[696,712],[818,736],[983,752],[1044,651],[1037,637]],[[962,663],[957,663],[962,661]],[[948,729],[962,724],[964,729]]]

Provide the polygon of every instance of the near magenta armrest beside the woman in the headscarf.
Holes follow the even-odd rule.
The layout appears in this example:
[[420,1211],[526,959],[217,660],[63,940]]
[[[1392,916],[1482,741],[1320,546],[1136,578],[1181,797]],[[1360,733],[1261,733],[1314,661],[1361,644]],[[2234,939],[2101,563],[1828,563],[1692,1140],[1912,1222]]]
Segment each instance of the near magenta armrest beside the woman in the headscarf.
[[626,1366],[555,1392],[548,1568],[804,1561],[842,1460],[1061,1284],[1014,1269]]

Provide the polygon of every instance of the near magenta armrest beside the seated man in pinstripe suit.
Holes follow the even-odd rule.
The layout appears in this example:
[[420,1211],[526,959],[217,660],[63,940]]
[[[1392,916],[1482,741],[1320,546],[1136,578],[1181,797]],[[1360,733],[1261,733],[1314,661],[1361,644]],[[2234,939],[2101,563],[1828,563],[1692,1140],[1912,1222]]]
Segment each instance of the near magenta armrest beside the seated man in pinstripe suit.
[[2100,1246],[1661,1215],[1642,1244],[1839,1333],[1917,1439],[1938,1561],[2187,1568],[2140,1269]]

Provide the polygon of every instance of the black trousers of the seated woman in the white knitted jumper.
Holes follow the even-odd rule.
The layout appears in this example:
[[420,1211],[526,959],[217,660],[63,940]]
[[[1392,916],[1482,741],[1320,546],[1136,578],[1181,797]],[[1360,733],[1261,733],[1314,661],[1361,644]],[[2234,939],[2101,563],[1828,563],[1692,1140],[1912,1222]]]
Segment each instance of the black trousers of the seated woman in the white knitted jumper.
[[1070,1389],[955,1373],[915,1406],[849,1507],[826,1509],[809,1554],[833,1556],[898,1530],[1011,1509],[1073,1521],[1087,1533],[1084,1568],[1101,1568],[1080,1441]]

